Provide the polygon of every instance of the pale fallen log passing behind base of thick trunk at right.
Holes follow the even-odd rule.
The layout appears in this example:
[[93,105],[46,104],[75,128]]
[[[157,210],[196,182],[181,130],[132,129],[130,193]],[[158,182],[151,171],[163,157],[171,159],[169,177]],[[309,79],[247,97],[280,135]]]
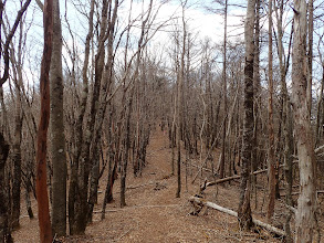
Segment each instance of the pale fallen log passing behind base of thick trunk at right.
[[[190,197],[189,201],[191,203],[196,202],[196,203],[209,207],[211,209],[216,209],[216,210],[218,210],[220,212],[224,212],[224,213],[227,213],[229,215],[238,218],[238,213],[236,211],[227,209],[227,208],[223,208],[223,207],[218,205],[218,204],[216,204],[213,202],[209,202],[209,201],[206,201],[206,200],[197,198],[197,197]],[[264,222],[262,222],[260,220],[253,219],[253,216],[252,216],[252,222],[255,225],[261,226],[261,228],[263,228],[263,229],[265,229],[265,230],[268,230],[268,231],[270,231],[272,233],[275,233],[275,234],[281,235],[281,236],[285,236],[285,232],[283,230],[280,230],[280,229],[278,229],[275,226],[272,226],[271,224],[264,223]]]

